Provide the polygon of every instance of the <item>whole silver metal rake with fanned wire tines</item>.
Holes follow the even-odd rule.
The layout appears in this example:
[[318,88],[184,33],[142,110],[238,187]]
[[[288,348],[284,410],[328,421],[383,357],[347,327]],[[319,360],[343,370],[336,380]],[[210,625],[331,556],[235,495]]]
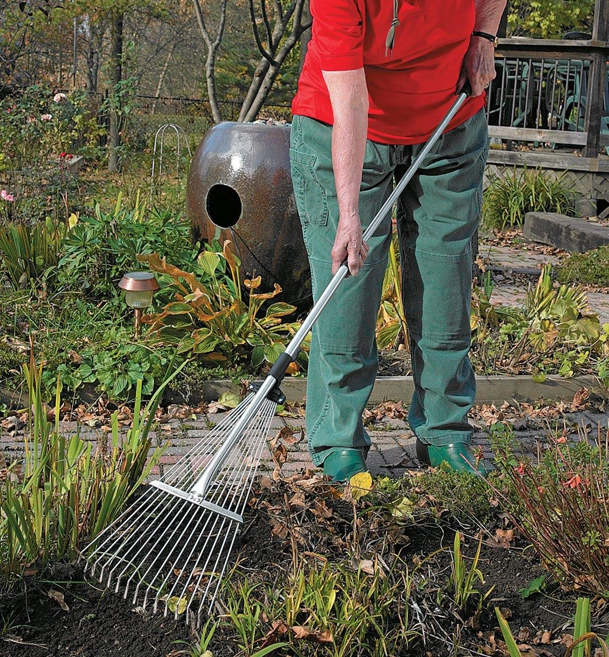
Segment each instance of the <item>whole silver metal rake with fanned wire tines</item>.
[[[463,91],[363,235],[367,240],[457,113]],[[87,549],[85,572],[142,608],[212,612],[278,403],[279,384],[319,315],[348,275],[343,263],[267,377],[250,385],[237,408],[145,491]]]

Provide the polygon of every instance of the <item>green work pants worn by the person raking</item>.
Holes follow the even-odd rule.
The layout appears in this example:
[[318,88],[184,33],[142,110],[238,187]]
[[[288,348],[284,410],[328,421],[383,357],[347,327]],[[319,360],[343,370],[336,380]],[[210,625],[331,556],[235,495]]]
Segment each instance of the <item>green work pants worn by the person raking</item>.
[[[332,127],[294,116],[292,181],[311,263],[313,297],[332,278],[330,250],[338,224],[332,172]],[[368,141],[359,214],[363,229],[422,146]],[[470,442],[467,413],[476,381],[471,344],[470,239],[480,221],[482,175],[488,152],[484,110],[445,133],[425,158],[397,204],[402,297],[411,338],[415,394],[411,429],[425,443]],[[370,438],[361,415],[378,367],[374,332],[392,233],[386,217],[369,240],[356,277],[348,277],[313,328],[307,374],[306,426],[313,463]]]

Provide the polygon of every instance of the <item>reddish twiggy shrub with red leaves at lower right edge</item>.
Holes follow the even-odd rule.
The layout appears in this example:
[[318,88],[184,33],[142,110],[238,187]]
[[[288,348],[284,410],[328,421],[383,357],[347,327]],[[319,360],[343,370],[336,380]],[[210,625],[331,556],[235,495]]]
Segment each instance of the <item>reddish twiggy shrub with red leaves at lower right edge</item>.
[[[503,499],[542,563],[565,584],[609,595],[609,453],[606,438],[550,438],[539,463],[518,456],[510,426],[491,426]],[[499,492],[499,491],[497,491]]]

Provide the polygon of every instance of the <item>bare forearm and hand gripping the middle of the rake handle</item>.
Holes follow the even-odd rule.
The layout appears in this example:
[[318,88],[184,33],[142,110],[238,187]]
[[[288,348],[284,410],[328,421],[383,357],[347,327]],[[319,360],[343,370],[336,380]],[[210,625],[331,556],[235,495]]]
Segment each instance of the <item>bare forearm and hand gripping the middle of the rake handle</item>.
[[349,271],[357,275],[368,253],[361,240],[359,189],[368,132],[368,89],[363,68],[351,71],[324,71],[334,127],[332,166],[338,197],[338,230],[332,248],[332,273],[345,258]]

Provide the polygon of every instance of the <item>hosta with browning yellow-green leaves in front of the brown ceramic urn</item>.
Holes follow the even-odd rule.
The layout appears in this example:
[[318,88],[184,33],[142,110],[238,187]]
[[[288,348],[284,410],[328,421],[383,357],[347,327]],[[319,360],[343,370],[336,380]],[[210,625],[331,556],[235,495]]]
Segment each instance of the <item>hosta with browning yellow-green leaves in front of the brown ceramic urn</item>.
[[[235,365],[249,360],[257,369],[264,362],[274,363],[300,327],[283,321],[296,307],[284,302],[265,306],[281,292],[277,283],[273,292],[256,292],[261,283],[256,277],[246,279],[247,292],[242,290],[240,261],[228,240],[221,252],[208,248],[198,256],[200,275],[174,267],[157,254],[138,260],[169,277],[175,288],[175,301],[160,313],[143,317],[150,325],[152,342],[175,345],[179,353],[192,352],[212,363]],[[301,350],[298,363],[292,363],[288,373],[298,372],[305,362],[306,353]]]

